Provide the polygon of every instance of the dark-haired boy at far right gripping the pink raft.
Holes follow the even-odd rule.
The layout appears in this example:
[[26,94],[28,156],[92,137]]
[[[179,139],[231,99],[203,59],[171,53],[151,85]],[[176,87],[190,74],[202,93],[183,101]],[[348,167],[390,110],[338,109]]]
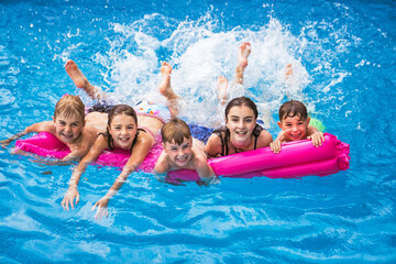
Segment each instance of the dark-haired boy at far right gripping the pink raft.
[[274,153],[280,152],[282,142],[308,139],[312,141],[316,147],[324,142],[323,133],[308,125],[310,118],[308,118],[307,108],[299,101],[290,100],[282,105],[279,108],[279,120],[277,124],[282,131],[276,140],[270,144]]

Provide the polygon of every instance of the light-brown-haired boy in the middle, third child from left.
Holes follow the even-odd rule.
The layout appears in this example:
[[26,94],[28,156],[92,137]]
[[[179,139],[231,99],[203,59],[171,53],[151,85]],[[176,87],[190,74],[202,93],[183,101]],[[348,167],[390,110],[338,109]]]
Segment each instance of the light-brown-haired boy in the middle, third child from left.
[[[164,174],[170,169],[195,169],[200,178],[213,175],[204,153],[204,144],[193,139],[187,123],[174,118],[161,130],[164,151],[155,164],[154,173]],[[199,146],[201,145],[201,146]]]

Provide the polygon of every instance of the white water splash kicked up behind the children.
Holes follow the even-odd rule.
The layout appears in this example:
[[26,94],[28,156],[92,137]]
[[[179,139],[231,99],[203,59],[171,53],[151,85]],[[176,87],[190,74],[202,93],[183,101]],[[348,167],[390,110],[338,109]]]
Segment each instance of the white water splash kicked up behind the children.
[[[334,30],[328,22],[307,22],[299,35],[271,18],[257,30],[237,26],[220,31],[219,21],[207,12],[197,20],[177,21],[154,13],[131,24],[111,23],[108,51],[94,58],[107,70],[102,74],[116,102],[132,103],[142,99],[165,102],[157,92],[162,61],[173,65],[172,86],[180,96],[180,117],[190,122],[213,125],[222,120],[218,107],[218,76],[229,79],[230,98],[251,97],[258,107],[266,127],[272,114],[288,99],[304,101],[314,112],[317,103],[333,98],[331,90],[349,75],[332,64],[350,43],[340,40],[346,29]],[[328,38],[320,35],[330,31]],[[233,85],[238,48],[242,42],[252,44],[244,86]],[[286,78],[286,66],[293,74]],[[310,70],[307,69],[308,65]],[[308,92],[326,98],[308,99]],[[311,95],[309,95],[311,96]],[[202,108],[202,106],[206,106]]]

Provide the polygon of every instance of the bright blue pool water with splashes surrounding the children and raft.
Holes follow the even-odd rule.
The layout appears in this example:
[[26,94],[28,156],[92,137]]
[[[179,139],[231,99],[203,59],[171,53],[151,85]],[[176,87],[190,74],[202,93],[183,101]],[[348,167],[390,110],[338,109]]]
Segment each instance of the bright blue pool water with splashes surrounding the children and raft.
[[3,139],[50,120],[64,94],[91,103],[66,75],[67,59],[120,102],[158,99],[167,61],[183,118],[221,121],[216,78],[232,78],[238,45],[249,41],[245,87],[231,96],[254,99],[273,135],[280,103],[304,100],[351,144],[352,158],[349,170],[327,177],[209,187],[133,174],[98,221],[90,208],[118,170],[87,169],[80,202],[66,212],[70,166],[1,150],[1,263],[396,262],[394,1],[4,0],[0,12]]

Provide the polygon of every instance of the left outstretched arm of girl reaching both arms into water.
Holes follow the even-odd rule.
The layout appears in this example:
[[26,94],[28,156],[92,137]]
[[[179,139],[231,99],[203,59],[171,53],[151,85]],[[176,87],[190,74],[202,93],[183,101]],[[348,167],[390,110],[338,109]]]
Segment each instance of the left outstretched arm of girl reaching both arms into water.
[[88,154],[82,158],[78,166],[73,170],[68,190],[65,194],[64,199],[62,200],[62,207],[68,210],[69,205],[74,209],[74,199],[76,198],[76,205],[79,201],[79,194],[77,190],[77,185],[81,175],[87,169],[89,163],[96,161],[100,153],[108,147],[107,140],[103,135],[99,135],[95,141],[94,146],[89,150]]

